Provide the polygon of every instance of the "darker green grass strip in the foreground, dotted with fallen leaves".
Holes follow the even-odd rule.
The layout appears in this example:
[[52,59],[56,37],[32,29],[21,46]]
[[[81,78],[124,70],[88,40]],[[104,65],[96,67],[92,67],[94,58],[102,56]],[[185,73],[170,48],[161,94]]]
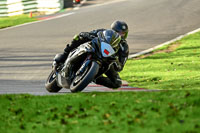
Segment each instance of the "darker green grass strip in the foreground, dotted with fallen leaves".
[[2,133],[199,133],[200,91],[0,95]]

